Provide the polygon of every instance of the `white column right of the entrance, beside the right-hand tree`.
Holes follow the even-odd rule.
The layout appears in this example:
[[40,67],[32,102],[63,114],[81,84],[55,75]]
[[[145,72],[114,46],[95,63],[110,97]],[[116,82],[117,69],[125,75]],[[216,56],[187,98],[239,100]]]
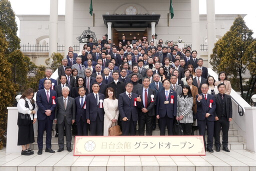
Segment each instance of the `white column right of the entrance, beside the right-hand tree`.
[[208,45],[208,67],[210,66],[210,54],[214,47],[216,41],[216,31],[215,31],[215,4],[214,0],[207,0],[207,45]]

